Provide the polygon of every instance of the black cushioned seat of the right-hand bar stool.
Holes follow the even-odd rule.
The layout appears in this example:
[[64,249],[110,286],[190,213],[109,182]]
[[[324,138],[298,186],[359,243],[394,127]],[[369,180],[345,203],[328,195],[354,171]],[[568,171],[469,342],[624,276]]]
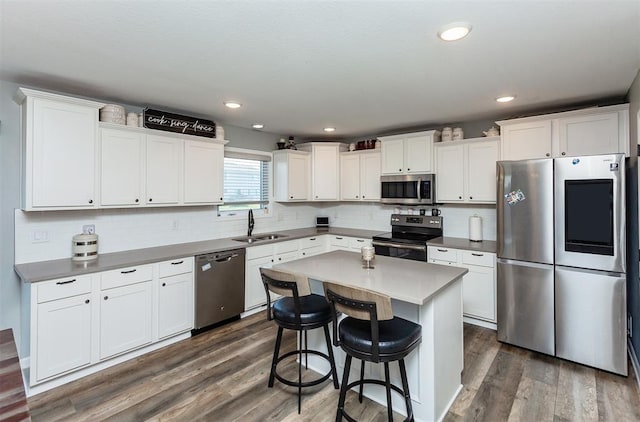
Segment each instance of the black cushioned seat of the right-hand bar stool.
[[[422,339],[422,327],[400,317],[378,321],[378,330],[379,362],[398,360],[408,355]],[[360,359],[365,355],[371,357],[371,321],[345,318],[340,323],[339,332],[342,346],[351,349],[349,352],[360,355],[357,356]]]

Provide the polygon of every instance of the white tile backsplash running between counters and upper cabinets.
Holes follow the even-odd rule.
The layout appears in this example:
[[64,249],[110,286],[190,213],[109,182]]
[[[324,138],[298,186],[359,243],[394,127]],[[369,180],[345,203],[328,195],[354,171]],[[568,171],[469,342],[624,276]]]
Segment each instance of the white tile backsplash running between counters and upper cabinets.
[[[328,216],[331,226],[390,230],[389,216],[408,207],[367,203],[273,203],[268,214],[256,213],[255,233],[315,225],[315,217]],[[466,238],[468,219],[483,220],[483,238],[496,238],[496,212],[491,206],[441,206],[444,234]],[[429,212],[431,207],[427,208]],[[175,243],[219,239],[246,233],[245,214],[220,217],[215,207],[102,209],[95,211],[15,210],[15,261],[46,261],[69,258],[71,239],[82,226],[94,224],[99,253],[118,252]]]

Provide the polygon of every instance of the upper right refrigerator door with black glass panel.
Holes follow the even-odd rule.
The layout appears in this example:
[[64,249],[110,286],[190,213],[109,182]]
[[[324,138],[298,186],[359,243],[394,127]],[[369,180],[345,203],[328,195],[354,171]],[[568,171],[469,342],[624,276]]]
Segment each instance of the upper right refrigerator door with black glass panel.
[[625,272],[624,155],[555,160],[555,263]]

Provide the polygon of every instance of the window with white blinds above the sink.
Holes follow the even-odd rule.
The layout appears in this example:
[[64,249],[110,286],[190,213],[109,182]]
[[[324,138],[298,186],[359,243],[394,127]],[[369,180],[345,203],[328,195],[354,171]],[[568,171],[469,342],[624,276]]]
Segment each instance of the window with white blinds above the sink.
[[267,207],[270,161],[268,153],[225,148],[224,205],[218,206],[218,214]]

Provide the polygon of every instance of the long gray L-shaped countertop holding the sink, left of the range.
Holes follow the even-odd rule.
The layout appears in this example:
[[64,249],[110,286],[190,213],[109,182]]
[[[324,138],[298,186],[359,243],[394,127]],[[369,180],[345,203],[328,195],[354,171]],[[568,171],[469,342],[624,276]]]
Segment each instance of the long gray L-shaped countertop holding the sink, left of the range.
[[[251,245],[231,240],[231,238],[178,243],[175,245],[158,246],[154,248],[100,254],[98,258],[93,261],[76,262],[72,261],[71,258],[66,258],[17,264],[14,268],[23,282],[34,283],[56,278],[131,267],[134,265],[150,264],[153,262],[182,258],[186,256],[195,256],[210,252],[220,252],[229,249],[246,248],[248,246],[265,245],[268,243],[300,239],[309,236],[334,234],[340,236],[371,238],[373,235],[379,234],[380,231],[341,227],[331,227],[329,229],[316,229],[315,227],[311,227],[294,230],[279,230],[278,233],[285,234],[287,237],[272,241],[264,240]],[[255,235],[258,236],[260,233],[255,233]]]

